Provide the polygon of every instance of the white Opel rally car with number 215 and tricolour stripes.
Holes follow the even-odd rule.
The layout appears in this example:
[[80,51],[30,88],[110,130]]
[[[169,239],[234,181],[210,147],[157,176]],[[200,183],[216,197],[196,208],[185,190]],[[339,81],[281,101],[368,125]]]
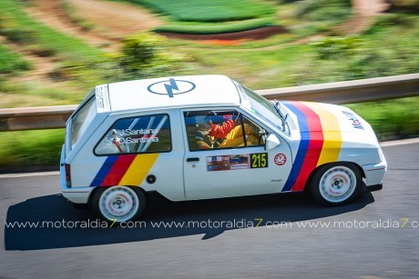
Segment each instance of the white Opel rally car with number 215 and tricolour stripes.
[[98,85],[66,123],[62,194],[109,222],[170,201],[309,190],[346,204],[382,188],[371,126],[340,105],[271,102],[224,75]]

